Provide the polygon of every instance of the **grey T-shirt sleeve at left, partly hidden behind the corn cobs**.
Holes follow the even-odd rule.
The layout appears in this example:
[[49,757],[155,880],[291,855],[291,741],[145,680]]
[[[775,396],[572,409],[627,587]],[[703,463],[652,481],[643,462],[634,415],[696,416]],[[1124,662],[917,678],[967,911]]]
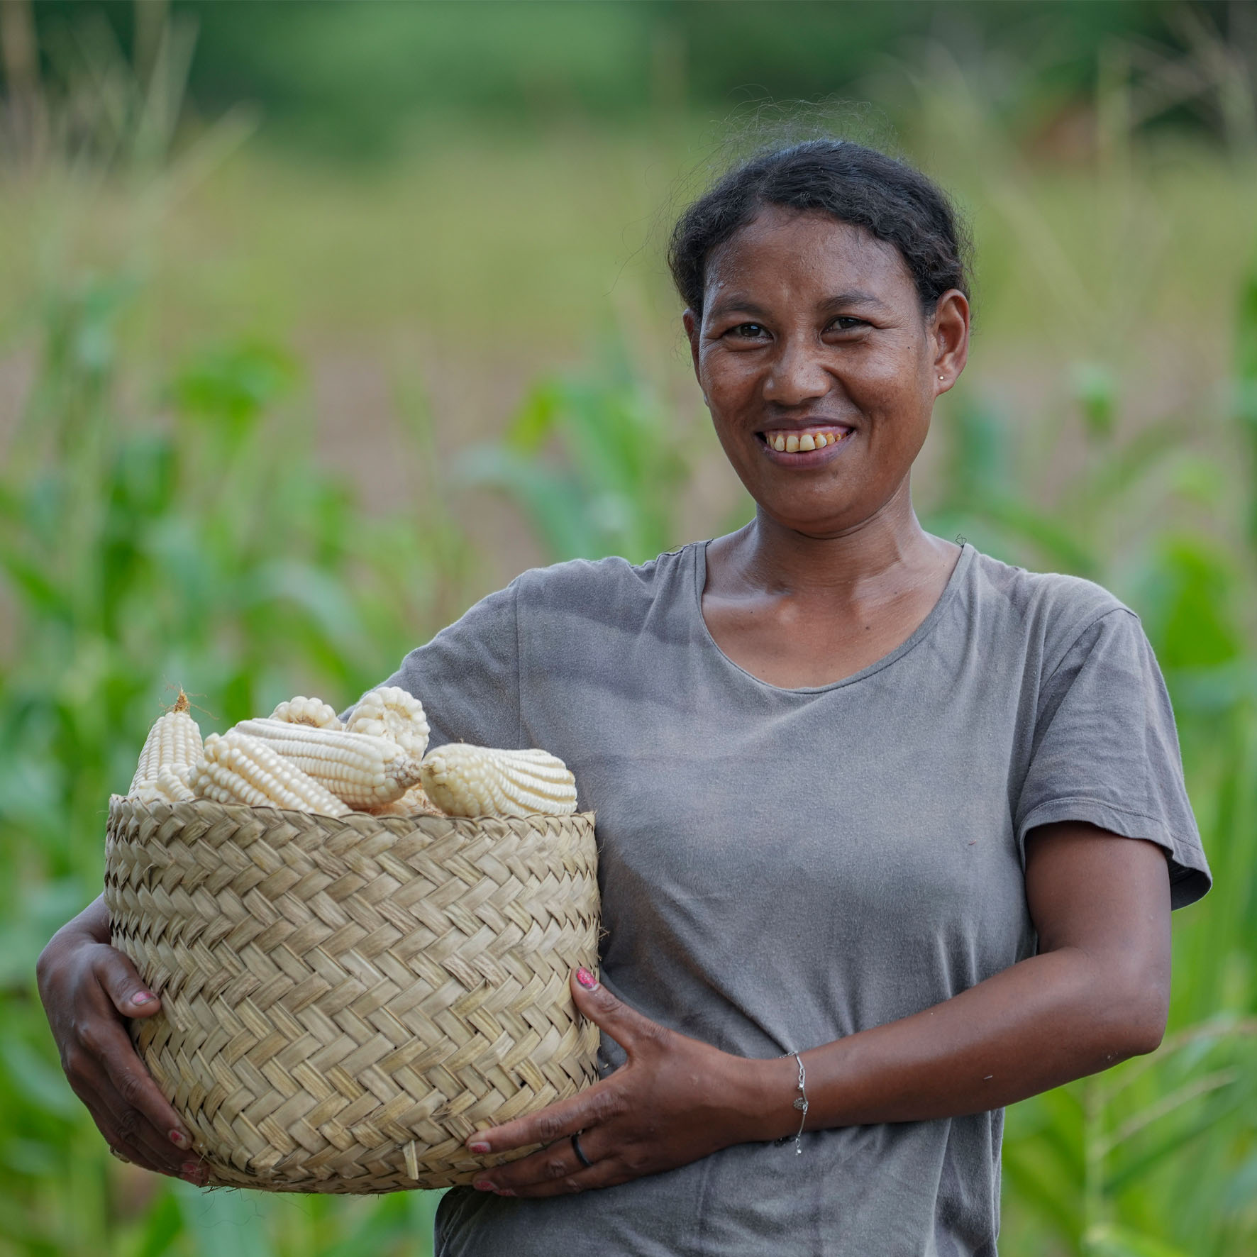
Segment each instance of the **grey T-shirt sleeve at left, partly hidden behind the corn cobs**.
[[517,585],[490,593],[426,646],[412,650],[383,685],[424,704],[430,745],[470,742],[527,747],[519,713]]

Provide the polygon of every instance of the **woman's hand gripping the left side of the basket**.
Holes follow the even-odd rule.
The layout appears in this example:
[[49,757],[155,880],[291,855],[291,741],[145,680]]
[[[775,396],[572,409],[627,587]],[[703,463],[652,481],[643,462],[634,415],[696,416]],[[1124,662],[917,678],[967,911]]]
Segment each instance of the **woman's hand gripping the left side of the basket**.
[[39,996],[62,1068],[114,1155],[204,1187],[206,1169],[191,1150],[187,1126],[157,1090],[123,1024],[152,1017],[161,1001],[108,939],[109,914],[98,899],[39,957]]

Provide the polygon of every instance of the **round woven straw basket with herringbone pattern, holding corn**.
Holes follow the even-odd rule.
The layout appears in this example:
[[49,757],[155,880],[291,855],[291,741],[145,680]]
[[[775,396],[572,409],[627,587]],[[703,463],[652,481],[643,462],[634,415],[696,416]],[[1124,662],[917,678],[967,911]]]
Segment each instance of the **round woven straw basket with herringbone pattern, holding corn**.
[[[333,820],[109,801],[113,944],[162,997],[132,1036],[210,1183],[470,1183],[474,1130],[595,1081],[593,816]],[[515,1156],[523,1153],[513,1154]]]

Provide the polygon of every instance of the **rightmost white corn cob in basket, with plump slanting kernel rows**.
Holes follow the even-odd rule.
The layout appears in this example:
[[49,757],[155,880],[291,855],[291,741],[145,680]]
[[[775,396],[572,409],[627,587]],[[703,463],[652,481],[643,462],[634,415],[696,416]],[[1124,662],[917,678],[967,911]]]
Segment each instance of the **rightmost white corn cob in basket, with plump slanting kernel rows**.
[[446,816],[576,811],[576,778],[547,750],[493,750],[453,742],[430,750],[424,789]]

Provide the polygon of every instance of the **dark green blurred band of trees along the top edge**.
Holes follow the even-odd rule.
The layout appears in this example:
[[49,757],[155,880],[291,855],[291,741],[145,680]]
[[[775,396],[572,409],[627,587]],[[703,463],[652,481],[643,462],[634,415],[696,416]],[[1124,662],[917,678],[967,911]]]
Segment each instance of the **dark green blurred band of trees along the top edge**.
[[[150,0],[152,3],[152,0]],[[137,40],[127,0],[41,0],[40,25],[106,14]],[[1095,49],[1138,38],[1185,44],[1179,6],[1156,0],[175,0],[195,18],[199,102],[260,104],[289,138],[342,156],[395,147],[416,116],[495,126],[577,114],[634,123],[690,107],[851,94],[887,54],[926,38],[964,59],[1012,54],[1060,97],[1090,85]],[[1233,6],[1197,0],[1222,30]],[[1033,122],[1033,117],[1021,118]]]

